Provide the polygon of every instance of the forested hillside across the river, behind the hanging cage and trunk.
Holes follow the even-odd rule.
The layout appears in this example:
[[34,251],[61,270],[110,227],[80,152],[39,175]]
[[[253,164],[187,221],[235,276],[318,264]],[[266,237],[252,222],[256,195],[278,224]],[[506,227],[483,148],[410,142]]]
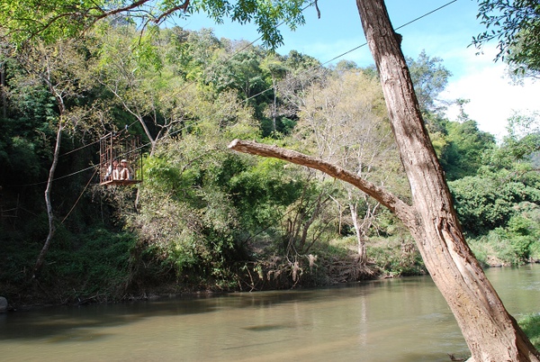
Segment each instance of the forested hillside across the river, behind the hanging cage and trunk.
[[[88,303],[425,273],[408,231],[356,188],[227,148],[298,149],[408,199],[374,68],[204,29],[112,22],[87,35],[1,44],[0,294]],[[516,114],[497,142],[465,113],[446,120],[442,59],[408,62],[477,258],[540,259],[536,115]],[[139,185],[99,185],[111,131],[142,137]]]

